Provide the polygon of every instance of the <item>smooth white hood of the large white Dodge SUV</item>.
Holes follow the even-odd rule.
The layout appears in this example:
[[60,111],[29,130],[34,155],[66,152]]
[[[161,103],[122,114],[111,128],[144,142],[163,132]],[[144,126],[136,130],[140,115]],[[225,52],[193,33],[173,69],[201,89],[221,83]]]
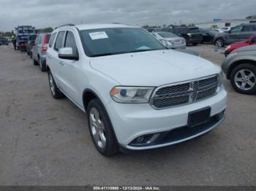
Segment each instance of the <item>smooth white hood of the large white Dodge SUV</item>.
[[156,50],[91,59],[91,67],[120,85],[159,86],[218,74],[214,63],[175,50]]

